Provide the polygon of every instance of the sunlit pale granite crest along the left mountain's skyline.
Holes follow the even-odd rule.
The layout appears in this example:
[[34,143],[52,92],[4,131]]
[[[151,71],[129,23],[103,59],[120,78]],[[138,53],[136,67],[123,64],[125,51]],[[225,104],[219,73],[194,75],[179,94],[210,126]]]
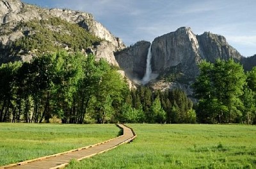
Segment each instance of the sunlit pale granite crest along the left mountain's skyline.
[[0,0],[0,23],[12,23],[15,26],[17,22],[28,22],[29,20],[48,17],[60,17],[63,20],[80,24],[87,31],[101,38],[102,40],[110,41],[116,49],[125,47],[124,43],[119,38],[111,34],[106,27],[94,20],[93,15],[81,11],[64,10],[64,9],[44,9],[37,6],[21,3],[19,0]]

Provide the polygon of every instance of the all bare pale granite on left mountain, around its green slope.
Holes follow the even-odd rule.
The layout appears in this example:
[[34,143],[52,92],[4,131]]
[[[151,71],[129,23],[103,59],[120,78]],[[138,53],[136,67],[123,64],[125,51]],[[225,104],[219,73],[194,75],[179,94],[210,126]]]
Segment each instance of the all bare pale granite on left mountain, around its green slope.
[[[34,22],[42,24],[42,20],[50,20],[51,18],[58,18],[60,22],[65,22],[65,24],[76,24],[79,27],[91,34],[92,36],[97,37],[101,42],[92,44],[90,48],[97,48],[96,50],[91,50],[95,52],[98,58],[105,57],[107,60],[118,66],[118,63],[115,61],[113,52],[125,48],[124,43],[120,38],[116,38],[111,34],[106,27],[102,26],[99,22],[94,20],[93,15],[90,13],[84,13],[81,11],[65,10],[65,9],[44,9],[30,4],[22,3],[19,0],[0,0],[0,61],[8,62],[21,59],[23,61],[29,61],[37,48],[33,50],[24,51],[21,48],[20,52],[12,54],[12,45],[20,38],[27,38],[29,35],[38,33],[34,27],[29,27]],[[25,24],[24,24],[25,23]],[[35,25],[35,24],[34,24]],[[33,25],[33,26],[34,26]],[[53,31],[55,34],[61,34],[61,36],[70,35],[71,33],[65,30],[61,24],[60,26],[54,26],[51,23],[44,22],[42,27],[47,28],[49,31]],[[33,29],[34,28],[34,29]],[[45,30],[44,29],[44,30]],[[72,36],[72,34],[71,34]],[[51,40],[55,46],[60,46],[65,48],[65,50],[74,50],[72,45],[68,43],[63,43],[59,40]],[[79,48],[79,50],[86,51],[87,48]],[[49,52],[49,51],[40,51],[40,52]]]

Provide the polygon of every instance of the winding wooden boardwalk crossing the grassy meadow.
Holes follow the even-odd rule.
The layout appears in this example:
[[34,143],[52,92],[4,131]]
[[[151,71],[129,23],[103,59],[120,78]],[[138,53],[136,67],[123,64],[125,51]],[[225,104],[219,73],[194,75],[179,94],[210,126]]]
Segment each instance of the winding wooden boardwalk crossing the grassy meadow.
[[64,166],[68,165],[71,159],[76,159],[80,161],[84,158],[90,158],[95,156],[96,154],[100,154],[102,152],[109,151],[114,149],[118,145],[123,143],[131,142],[134,138],[136,138],[136,134],[131,128],[123,124],[117,124],[120,128],[123,129],[124,133],[122,136],[118,136],[111,140],[107,140],[102,143],[97,143],[95,145],[90,145],[87,147],[83,147],[80,149],[75,149],[68,152],[63,152],[60,154],[54,154],[52,156],[45,156],[42,158],[32,159],[28,161],[23,161],[17,164],[7,165],[7,166],[0,166],[0,169],[3,168],[63,168]]

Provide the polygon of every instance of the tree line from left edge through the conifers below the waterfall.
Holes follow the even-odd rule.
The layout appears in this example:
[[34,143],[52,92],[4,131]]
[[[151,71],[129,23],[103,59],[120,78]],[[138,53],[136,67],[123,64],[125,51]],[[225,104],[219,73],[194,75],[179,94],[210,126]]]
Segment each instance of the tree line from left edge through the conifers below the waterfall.
[[[0,122],[195,122],[193,103],[179,89],[129,90],[103,59],[57,52],[0,67]],[[192,119],[191,119],[192,118]]]

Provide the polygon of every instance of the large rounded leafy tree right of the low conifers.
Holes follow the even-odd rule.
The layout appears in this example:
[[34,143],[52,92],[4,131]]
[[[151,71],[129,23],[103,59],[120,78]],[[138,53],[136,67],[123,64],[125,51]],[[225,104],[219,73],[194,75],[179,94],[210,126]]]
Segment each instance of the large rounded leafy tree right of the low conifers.
[[199,68],[200,75],[193,87],[204,121],[237,122],[242,116],[243,102],[240,98],[246,83],[241,64],[232,59],[217,59],[214,64],[204,61]]

